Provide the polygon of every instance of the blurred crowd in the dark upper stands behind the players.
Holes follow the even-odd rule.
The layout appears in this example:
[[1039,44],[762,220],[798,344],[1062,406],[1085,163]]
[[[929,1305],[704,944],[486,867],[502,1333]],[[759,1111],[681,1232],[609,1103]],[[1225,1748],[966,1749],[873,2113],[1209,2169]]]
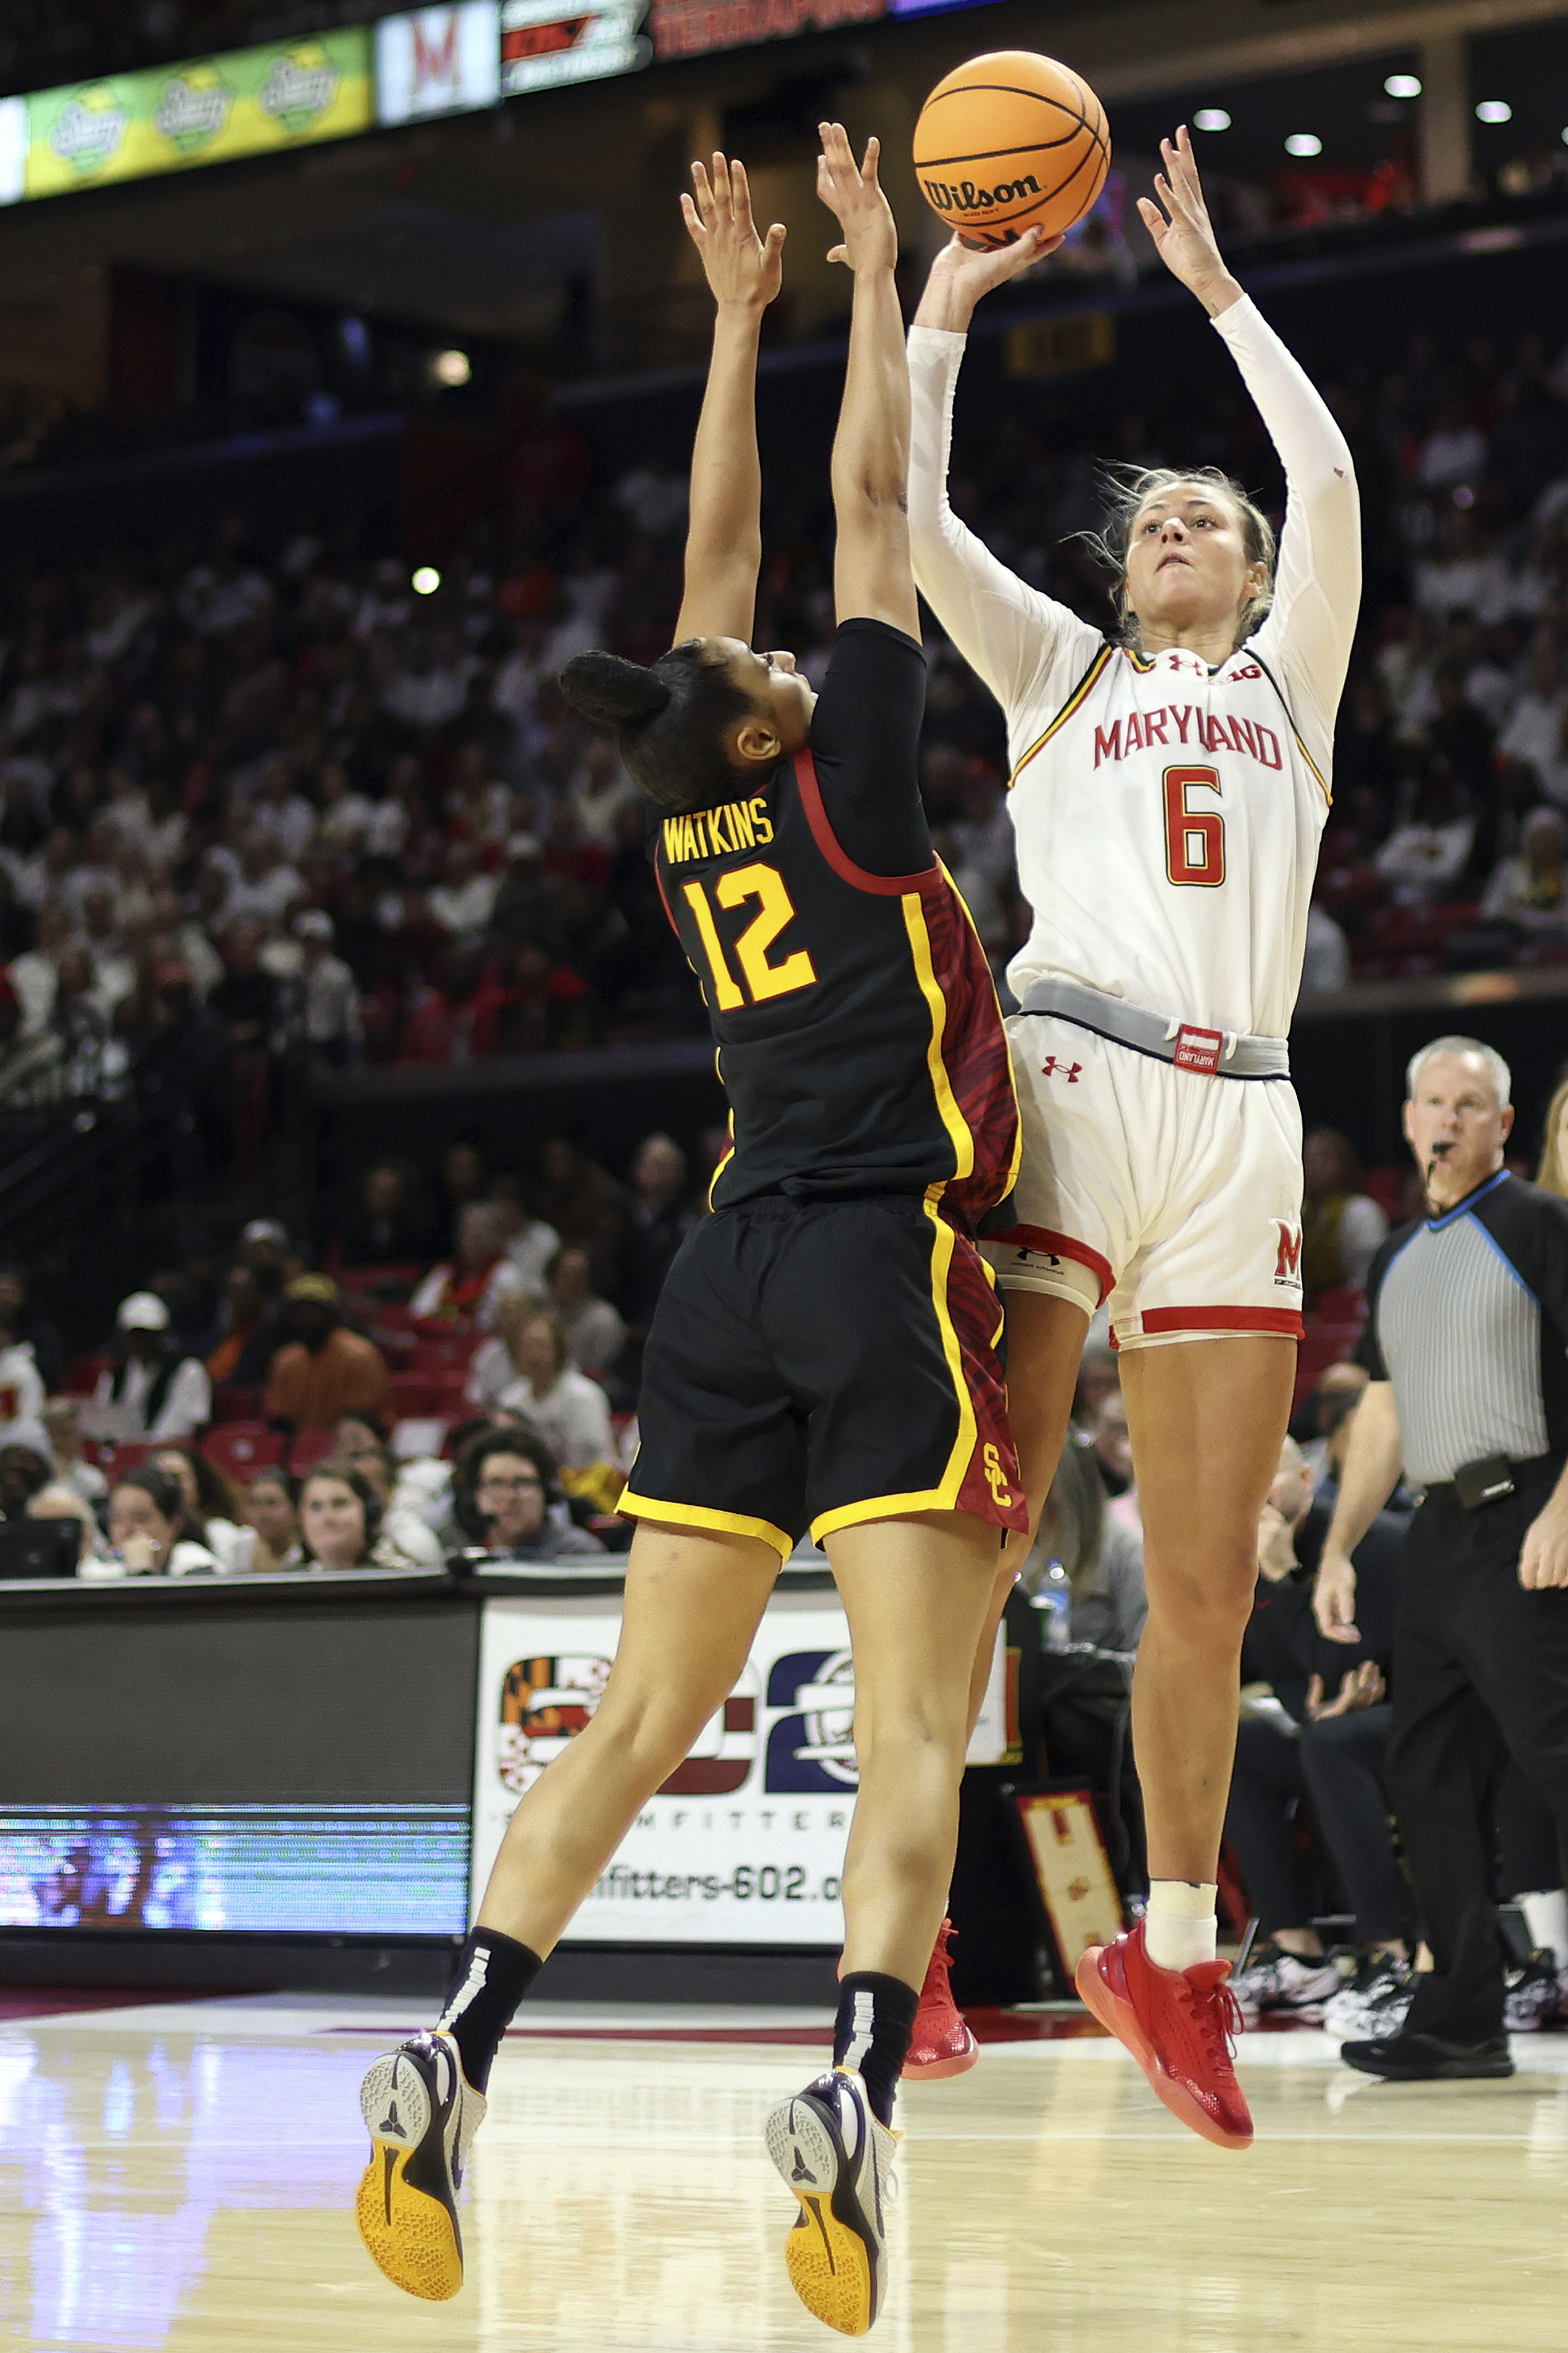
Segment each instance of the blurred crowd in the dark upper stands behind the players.
[[[1312,358],[1312,353],[1307,355]],[[1305,986],[1568,960],[1568,358],[1535,332],[1328,379],[1368,600]],[[1018,572],[1107,619],[1095,461],[1220,461],[1279,496],[1239,388],[1041,421],[959,412],[954,499]],[[651,656],[684,485],[529,445],[515,534],[404,565],[240,515],[207,544],[19,574],[0,633],[0,1106],[155,1099],[176,1181],[254,1176],[289,1085],[698,1033],[701,998],[611,746],[555,687]],[[827,515],[769,466],[757,642],[820,678]],[[994,704],[931,640],[922,791],[997,972],[1027,929]]]

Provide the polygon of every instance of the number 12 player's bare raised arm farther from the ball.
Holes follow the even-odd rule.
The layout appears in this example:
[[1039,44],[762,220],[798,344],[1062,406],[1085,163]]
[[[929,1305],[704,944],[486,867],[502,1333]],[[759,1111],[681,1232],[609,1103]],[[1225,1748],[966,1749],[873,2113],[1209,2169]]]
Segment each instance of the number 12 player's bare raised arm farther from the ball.
[[743,162],[691,165],[682,214],[717,304],[708,391],[691,449],[686,586],[675,642],[741,638],[750,645],[762,567],[762,461],[757,456],[757,339],[783,282],[778,221],[752,224]]

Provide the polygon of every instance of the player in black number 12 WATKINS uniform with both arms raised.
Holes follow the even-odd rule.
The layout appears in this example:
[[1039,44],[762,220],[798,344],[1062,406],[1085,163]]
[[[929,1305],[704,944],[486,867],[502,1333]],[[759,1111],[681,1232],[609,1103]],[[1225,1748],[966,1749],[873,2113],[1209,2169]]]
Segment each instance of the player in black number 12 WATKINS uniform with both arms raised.
[[411,2294],[461,2285],[456,2186],[505,2024],[724,1706],[811,1527],[849,1617],[860,1795],[835,2068],[776,2108],[766,2139],[799,2198],[790,2278],[860,2334],[882,2299],[893,2085],[957,1842],[971,1664],[1001,1534],[1025,1527],[1001,1313],[973,1247],[1011,1188],[1018,1118],[990,972],[914,781],[910,388],[877,144],[858,167],[823,127],[818,191],[856,292],[820,696],[790,654],[750,647],[757,332],[785,233],[757,238],[741,165],[715,155],[691,176],[717,325],[677,642],[651,668],[583,654],[562,687],[618,732],[656,802],[658,882],[708,998],[731,1151],[646,1346],[609,1687],[512,1814],[435,2033],[364,2080],[360,2231]]

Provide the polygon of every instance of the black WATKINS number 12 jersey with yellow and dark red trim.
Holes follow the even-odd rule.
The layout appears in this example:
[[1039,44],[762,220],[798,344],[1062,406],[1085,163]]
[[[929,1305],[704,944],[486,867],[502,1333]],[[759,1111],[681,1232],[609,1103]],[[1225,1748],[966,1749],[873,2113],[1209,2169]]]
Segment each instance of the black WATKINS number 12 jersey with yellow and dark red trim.
[[973,1231],[1013,1184],[1018,1106],[980,939],[917,788],[924,659],[846,621],[811,751],[654,861],[731,1106],[715,1209],[764,1193],[940,1200]]

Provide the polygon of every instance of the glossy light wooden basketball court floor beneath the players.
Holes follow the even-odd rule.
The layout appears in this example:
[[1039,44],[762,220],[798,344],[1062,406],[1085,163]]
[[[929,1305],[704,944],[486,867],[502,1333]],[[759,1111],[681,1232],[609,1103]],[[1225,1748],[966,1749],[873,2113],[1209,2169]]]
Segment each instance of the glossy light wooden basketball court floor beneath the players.
[[[816,2071],[825,2019],[524,2014],[475,2153],[468,2287],[447,2306],[388,2287],[350,2219],[360,2073],[418,2024],[418,2005],[292,1998],[7,2017],[0,2341],[28,2353],[837,2341],[785,2285],[795,2209],[759,2137],[771,2101]],[[1258,2146],[1234,2158],[1182,2132],[1114,2042],[992,2042],[971,2075],[903,2101],[893,2285],[872,2341],[1561,2353],[1568,2035],[1519,2038],[1514,2052],[1512,2082],[1389,2087],[1340,2068],[1316,2033],[1251,2035]]]

